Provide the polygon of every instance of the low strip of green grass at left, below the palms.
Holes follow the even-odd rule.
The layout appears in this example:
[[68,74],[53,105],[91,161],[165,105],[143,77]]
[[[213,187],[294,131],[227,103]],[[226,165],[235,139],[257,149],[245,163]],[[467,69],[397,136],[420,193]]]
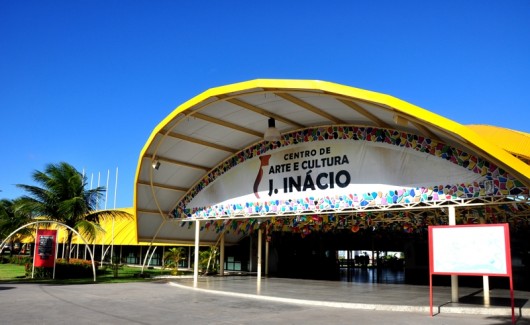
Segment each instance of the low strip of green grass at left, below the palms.
[[[169,269],[151,269],[145,268],[142,275],[140,267],[131,267],[124,265],[118,271],[118,276],[114,274],[110,268],[98,270],[96,276],[96,283],[123,283],[123,282],[141,282],[153,281],[157,275],[169,275]],[[180,272],[182,274],[183,272]],[[88,278],[81,279],[31,279],[25,277],[24,265],[17,264],[0,264],[0,283],[17,282],[17,283],[54,283],[54,284],[85,284],[94,283],[94,277],[91,275]]]

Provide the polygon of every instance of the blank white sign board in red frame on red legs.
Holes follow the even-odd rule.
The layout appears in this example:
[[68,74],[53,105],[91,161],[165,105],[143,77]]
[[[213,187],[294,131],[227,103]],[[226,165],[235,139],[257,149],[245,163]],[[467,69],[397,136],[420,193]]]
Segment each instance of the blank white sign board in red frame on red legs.
[[429,226],[429,300],[433,275],[504,276],[510,279],[515,322],[508,224]]

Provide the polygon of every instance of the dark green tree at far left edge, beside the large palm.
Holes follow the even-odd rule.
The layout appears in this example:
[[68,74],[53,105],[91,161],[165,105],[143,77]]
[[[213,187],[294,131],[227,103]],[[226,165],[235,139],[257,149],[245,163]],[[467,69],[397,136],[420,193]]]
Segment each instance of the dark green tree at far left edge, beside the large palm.
[[[31,221],[31,216],[29,214],[23,213],[20,210],[20,199],[0,200],[0,238],[5,239],[13,231],[24,226],[25,224],[30,223]],[[31,236],[32,231],[28,228],[23,228],[20,230],[19,234]],[[10,255],[13,255],[13,249],[15,247],[15,241],[17,238],[18,237],[16,236],[11,236],[10,238]],[[1,250],[2,247],[0,247],[0,251]]]

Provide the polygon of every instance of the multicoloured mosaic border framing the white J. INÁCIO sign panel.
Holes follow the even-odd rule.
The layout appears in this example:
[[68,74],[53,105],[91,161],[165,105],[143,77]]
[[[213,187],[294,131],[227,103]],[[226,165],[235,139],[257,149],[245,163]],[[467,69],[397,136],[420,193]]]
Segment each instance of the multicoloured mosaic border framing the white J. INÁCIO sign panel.
[[[410,148],[418,152],[427,153],[440,159],[447,160],[455,165],[461,166],[475,174],[483,176],[484,182],[473,182],[467,184],[433,184],[432,186],[416,188],[395,188],[385,192],[373,191],[366,188],[360,193],[347,193],[344,195],[312,197],[303,199],[275,199],[267,202],[241,202],[226,205],[206,206],[202,208],[189,209],[187,204],[204,188],[211,184],[219,176],[249,159],[260,156],[271,150],[290,145],[317,142],[327,140],[351,140],[370,141],[385,143],[397,147]],[[469,200],[481,197],[501,197],[528,195],[528,188],[514,179],[503,169],[485,161],[479,157],[472,156],[460,149],[451,147],[441,142],[434,141],[418,135],[407,134],[395,130],[371,128],[371,127],[349,127],[333,126],[323,128],[310,128],[292,132],[282,136],[281,141],[267,143],[260,142],[247,148],[230,159],[223,162],[202,179],[190,192],[179,202],[172,215],[175,218],[218,218],[234,216],[264,216],[264,215],[303,215],[322,214],[318,218],[330,218],[325,216],[328,212],[344,212],[351,210],[363,210],[367,208],[391,207],[395,205],[414,204],[420,202],[440,202],[447,200]],[[307,218],[307,217],[305,217]],[[234,220],[232,222],[240,222]],[[326,224],[326,222],[323,222]],[[225,224],[223,222],[223,224]],[[355,225],[352,225],[354,227]],[[205,225],[206,227],[206,225]],[[245,227],[252,227],[247,223]],[[233,228],[233,225],[232,225]],[[237,228],[237,227],[236,227]],[[291,226],[292,228],[292,226]],[[237,228],[241,231],[241,227]],[[353,229],[353,228],[352,228]],[[353,231],[353,230],[352,230]]]

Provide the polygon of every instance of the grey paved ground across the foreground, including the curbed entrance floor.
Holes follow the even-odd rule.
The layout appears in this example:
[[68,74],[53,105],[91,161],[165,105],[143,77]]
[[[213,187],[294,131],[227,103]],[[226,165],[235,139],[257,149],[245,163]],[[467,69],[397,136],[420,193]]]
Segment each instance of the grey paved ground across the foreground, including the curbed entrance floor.
[[[199,288],[190,279],[146,283],[40,285],[0,284],[1,324],[511,324],[509,315],[455,314],[440,309],[434,317],[425,311],[392,311],[373,308],[389,302],[395,306],[417,305],[425,287],[289,279],[230,277],[200,279]],[[169,282],[168,282],[169,281]],[[340,283],[340,282],[339,282]],[[328,284],[326,286],[326,284]],[[222,287],[223,290],[220,290]],[[272,291],[282,296],[270,295]],[[251,291],[251,292],[249,292]],[[427,288],[428,291],[428,288]],[[438,294],[436,293],[438,291]],[[435,288],[436,303],[443,301],[443,288]],[[331,292],[335,292],[332,295]],[[404,292],[408,292],[403,294]],[[400,294],[401,293],[401,294]],[[492,292],[492,297],[503,292]],[[516,293],[516,324],[530,324],[528,294]],[[370,301],[379,295],[379,301]],[[526,295],[526,296],[523,296]],[[327,296],[327,298],[325,298]],[[420,296],[407,301],[409,297]],[[333,298],[334,297],[334,298]],[[355,306],[344,303],[350,297]],[[333,298],[333,299],[332,299]],[[499,297],[502,298],[502,297]],[[322,300],[318,300],[322,299]],[[312,301],[313,303],[307,303]],[[506,301],[499,300],[501,304]],[[427,300],[428,304],[428,300]],[[475,304],[476,302],[471,302]],[[362,306],[371,309],[359,309]],[[353,308],[350,308],[353,307]],[[478,308],[475,306],[474,308]],[[480,308],[484,308],[480,306]],[[506,306],[493,306],[487,309]]]

